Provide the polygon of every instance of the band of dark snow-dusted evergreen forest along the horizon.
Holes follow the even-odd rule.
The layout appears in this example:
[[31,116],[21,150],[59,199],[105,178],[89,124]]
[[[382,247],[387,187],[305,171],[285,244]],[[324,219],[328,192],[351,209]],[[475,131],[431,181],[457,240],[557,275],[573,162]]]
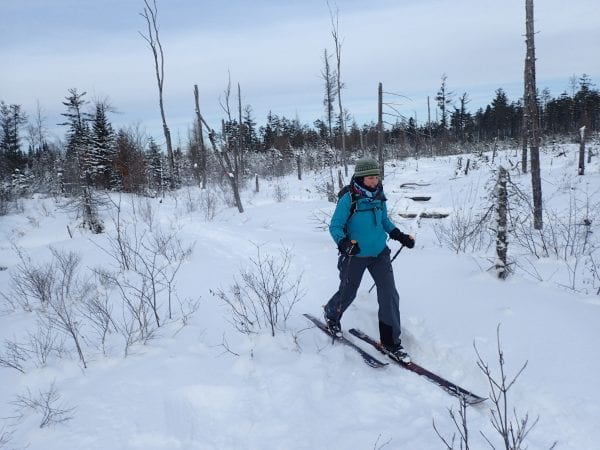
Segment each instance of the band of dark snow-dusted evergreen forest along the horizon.
[[[571,94],[556,98],[544,90],[538,96],[540,129],[545,136],[578,136],[600,129],[600,92],[587,75],[573,81]],[[20,105],[0,101],[0,199],[31,192],[71,195],[82,187],[123,192],[156,193],[172,186],[205,184],[222,178],[215,151],[233,145],[241,149],[241,177],[254,173],[281,175],[291,170],[302,155],[307,167],[339,162],[342,129],[339,117],[331,126],[318,119],[312,125],[269,113],[258,126],[252,108],[246,106],[242,124],[223,121],[217,146],[209,151],[206,139],[193,125],[188,139],[174,151],[175,166],[167,164],[160,146],[139,128],[115,130],[111,106],[90,103],[85,92],[71,89],[63,102],[65,139],[49,142],[40,111],[29,116]],[[498,89],[492,102],[472,113],[464,93],[453,98],[445,86],[435,97],[435,118],[418,124],[413,117],[389,114],[384,128],[386,149],[397,155],[460,152],[461,144],[518,140],[522,132],[522,101],[511,101]],[[345,145],[350,154],[371,151],[377,145],[377,125],[359,125],[346,113]],[[213,141],[211,141],[213,142]],[[175,182],[173,182],[175,181]],[[5,202],[0,203],[5,204]]]

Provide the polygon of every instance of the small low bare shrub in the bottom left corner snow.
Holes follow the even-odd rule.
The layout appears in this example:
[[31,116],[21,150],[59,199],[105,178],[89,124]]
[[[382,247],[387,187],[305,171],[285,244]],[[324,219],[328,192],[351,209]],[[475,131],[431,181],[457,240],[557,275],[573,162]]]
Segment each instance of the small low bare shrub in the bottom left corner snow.
[[71,413],[75,409],[60,402],[60,394],[54,383],[47,390],[40,390],[37,394],[32,394],[28,388],[25,394],[18,395],[12,403],[17,409],[19,418],[23,418],[28,411],[33,411],[41,416],[40,428],[71,420],[73,418]]

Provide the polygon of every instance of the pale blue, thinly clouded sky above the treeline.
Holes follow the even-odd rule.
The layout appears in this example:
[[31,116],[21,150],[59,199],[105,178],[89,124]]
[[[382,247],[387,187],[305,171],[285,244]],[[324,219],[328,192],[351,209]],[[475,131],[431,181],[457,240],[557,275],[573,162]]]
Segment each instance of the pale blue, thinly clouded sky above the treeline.
[[[325,0],[157,0],[165,49],[165,107],[175,139],[193,121],[193,86],[213,126],[228,73],[256,121],[269,110],[312,123],[323,116],[322,54],[333,51]],[[331,2],[335,7],[334,2]],[[345,107],[359,123],[376,119],[377,84],[408,98],[397,108],[426,119],[442,74],[470,96],[471,110],[503,87],[522,92],[524,0],[339,0]],[[2,0],[0,99],[34,115],[39,102],[51,133],[69,88],[108,99],[115,126],[140,124],[160,139],[152,56],[139,31],[142,0]],[[552,95],[573,74],[600,84],[597,0],[538,0],[537,77]],[[237,99],[232,99],[237,101]],[[391,112],[391,111],[390,111]],[[393,120],[393,119],[389,119]]]

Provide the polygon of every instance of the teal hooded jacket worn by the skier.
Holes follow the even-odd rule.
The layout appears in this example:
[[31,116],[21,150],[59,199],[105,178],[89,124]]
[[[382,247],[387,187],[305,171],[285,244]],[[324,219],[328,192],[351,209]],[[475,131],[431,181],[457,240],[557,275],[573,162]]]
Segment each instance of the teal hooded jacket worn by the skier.
[[377,256],[386,247],[388,233],[396,225],[388,217],[383,192],[375,199],[358,197],[356,210],[350,215],[352,194],[346,192],[339,199],[331,223],[329,233],[336,245],[347,237],[358,242],[360,252],[356,256]]

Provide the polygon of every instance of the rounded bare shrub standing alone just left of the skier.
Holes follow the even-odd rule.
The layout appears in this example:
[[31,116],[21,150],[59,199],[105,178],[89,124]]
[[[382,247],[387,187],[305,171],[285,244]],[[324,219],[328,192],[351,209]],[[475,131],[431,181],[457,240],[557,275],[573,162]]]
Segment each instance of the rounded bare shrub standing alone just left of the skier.
[[242,333],[250,334],[267,328],[271,336],[285,327],[294,305],[303,296],[302,276],[289,280],[290,250],[283,248],[279,258],[264,255],[256,246],[256,257],[249,268],[240,271],[241,282],[234,280],[229,292],[212,292],[230,309],[231,322]]

